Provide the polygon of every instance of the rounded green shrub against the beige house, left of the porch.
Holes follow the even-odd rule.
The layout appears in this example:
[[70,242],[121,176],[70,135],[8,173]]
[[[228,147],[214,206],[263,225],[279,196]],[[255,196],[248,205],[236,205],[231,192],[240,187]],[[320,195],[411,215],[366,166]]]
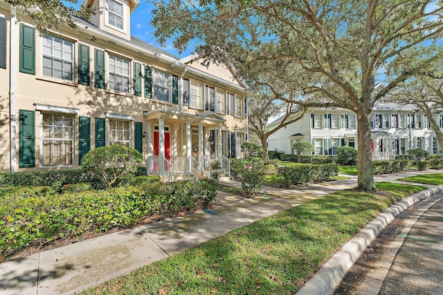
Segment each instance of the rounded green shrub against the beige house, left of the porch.
[[122,144],[102,146],[89,151],[82,158],[82,168],[93,178],[93,187],[116,187],[137,171],[143,155]]

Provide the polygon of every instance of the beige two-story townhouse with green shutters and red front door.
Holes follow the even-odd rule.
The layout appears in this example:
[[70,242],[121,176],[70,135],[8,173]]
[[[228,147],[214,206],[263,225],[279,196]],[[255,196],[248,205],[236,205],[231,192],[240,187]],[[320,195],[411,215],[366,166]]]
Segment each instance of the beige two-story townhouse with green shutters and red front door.
[[240,156],[246,85],[226,66],[132,37],[139,3],[108,0],[90,21],[74,18],[78,32],[39,35],[0,0],[0,171],[77,167],[89,150],[117,143],[141,151],[152,173]]

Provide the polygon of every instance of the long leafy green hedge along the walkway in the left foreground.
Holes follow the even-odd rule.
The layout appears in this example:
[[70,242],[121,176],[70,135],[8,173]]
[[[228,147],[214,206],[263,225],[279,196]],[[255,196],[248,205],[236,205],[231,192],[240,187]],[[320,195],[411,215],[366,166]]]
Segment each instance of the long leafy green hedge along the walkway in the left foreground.
[[131,227],[147,216],[166,216],[217,196],[214,180],[145,182],[137,187],[89,191],[89,185],[55,193],[51,187],[0,188],[1,254],[39,247],[55,239],[81,238],[91,231]]

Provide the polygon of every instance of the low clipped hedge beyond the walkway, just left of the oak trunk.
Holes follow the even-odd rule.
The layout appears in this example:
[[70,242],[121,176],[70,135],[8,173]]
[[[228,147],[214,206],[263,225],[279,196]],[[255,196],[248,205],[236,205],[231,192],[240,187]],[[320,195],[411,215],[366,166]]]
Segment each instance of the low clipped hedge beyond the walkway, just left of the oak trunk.
[[290,187],[307,182],[322,182],[329,180],[338,173],[338,165],[331,164],[306,164],[298,166],[283,166],[278,168],[282,177],[282,185]]

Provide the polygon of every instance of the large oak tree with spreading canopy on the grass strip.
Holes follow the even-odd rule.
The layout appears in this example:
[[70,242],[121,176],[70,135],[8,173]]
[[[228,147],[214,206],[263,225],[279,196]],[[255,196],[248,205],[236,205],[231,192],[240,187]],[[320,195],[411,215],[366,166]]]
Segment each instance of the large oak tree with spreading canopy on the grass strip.
[[[437,59],[442,1],[424,0],[161,0],[152,24],[161,43],[190,41],[207,61],[229,62],[248,79],[301,91],[311,106],[356,113],[358,188],[376,191],[370,117],[374,102]],[[384,79],[386,77],[386,79]],[[377,79],[386,88],[374,93]]]

